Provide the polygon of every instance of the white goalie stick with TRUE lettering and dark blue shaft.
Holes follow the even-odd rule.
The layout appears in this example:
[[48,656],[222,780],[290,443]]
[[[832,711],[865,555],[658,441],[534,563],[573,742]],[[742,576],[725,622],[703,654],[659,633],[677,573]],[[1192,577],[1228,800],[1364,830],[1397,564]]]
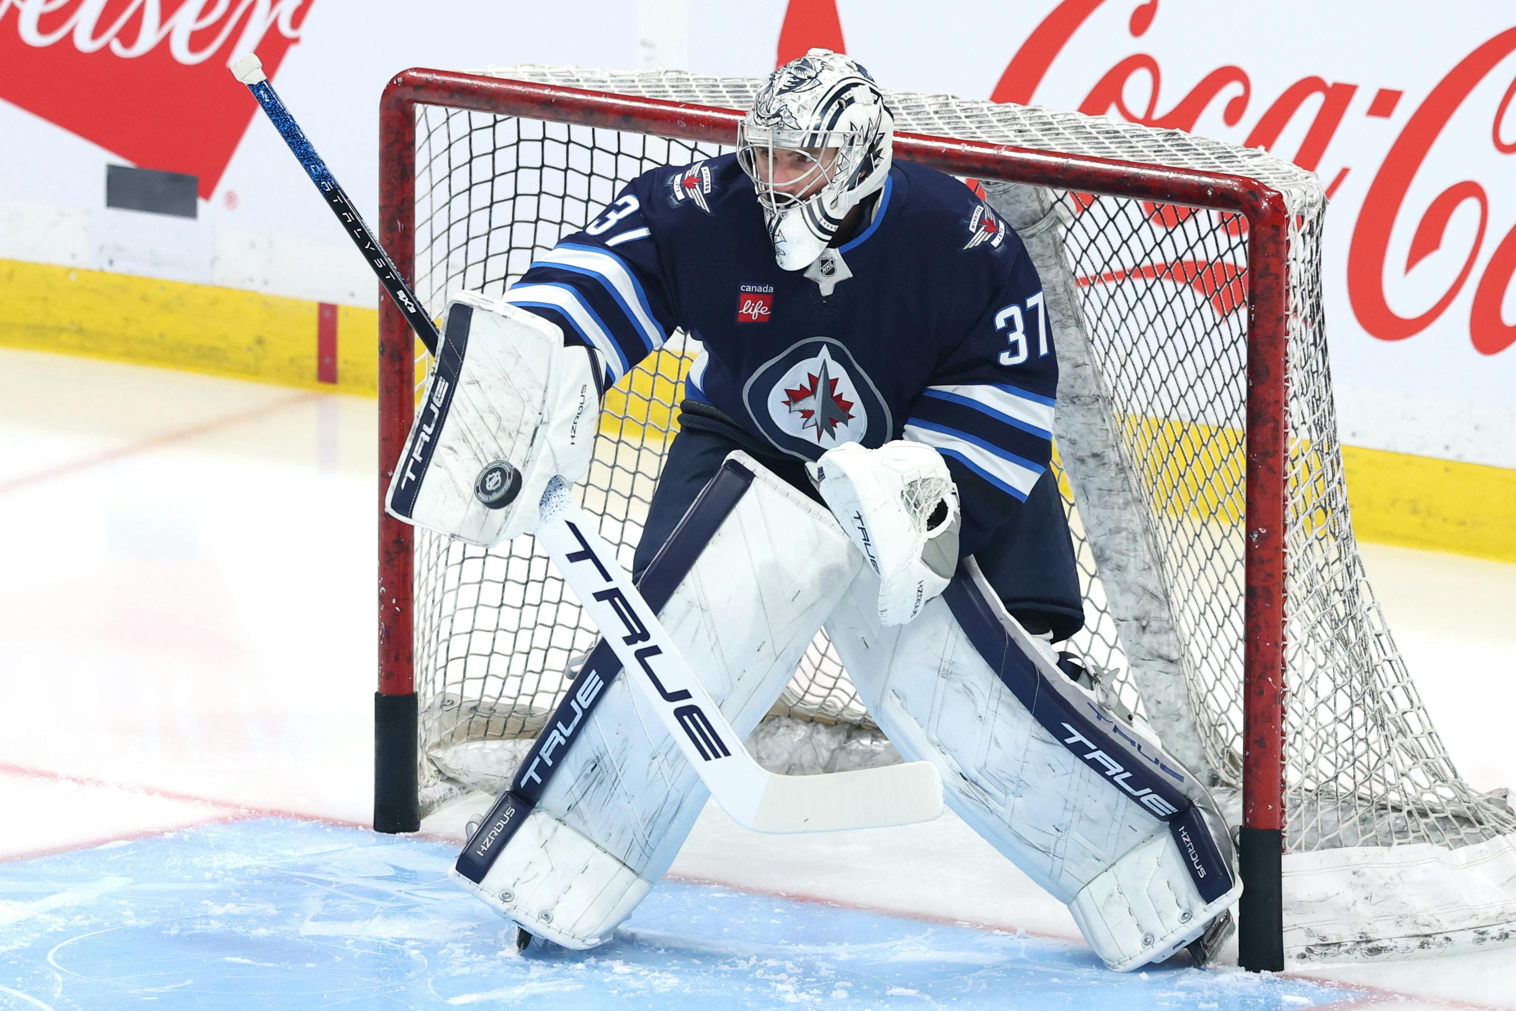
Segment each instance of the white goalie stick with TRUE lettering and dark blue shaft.
[[[230,70],[252,91],[411,329],[435,356],[437,326],[268,83],[262,62],[249,53]],[[816,776],[784,776],[763,768],[743,747],[561,477],[547,484],[540,515],[538,543],[711,796],[738,825],[758,832],[826,832],[929,822],[941,814],[941,778],[931,762]],[[619,626],[625,635],[609,632]]]

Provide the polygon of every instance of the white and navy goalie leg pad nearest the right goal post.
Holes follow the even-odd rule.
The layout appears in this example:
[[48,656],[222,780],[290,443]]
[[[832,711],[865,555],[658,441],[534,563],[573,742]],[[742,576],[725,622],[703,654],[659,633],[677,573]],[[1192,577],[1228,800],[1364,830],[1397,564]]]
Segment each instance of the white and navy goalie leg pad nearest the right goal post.
[[1125,970],[1173,953],[1242,893],[1216,805],[1152,740],[1040,653],[966,559],[907,626],[879,623],[872,571],[826,621],[870,714],[944,799],[1070,905]]

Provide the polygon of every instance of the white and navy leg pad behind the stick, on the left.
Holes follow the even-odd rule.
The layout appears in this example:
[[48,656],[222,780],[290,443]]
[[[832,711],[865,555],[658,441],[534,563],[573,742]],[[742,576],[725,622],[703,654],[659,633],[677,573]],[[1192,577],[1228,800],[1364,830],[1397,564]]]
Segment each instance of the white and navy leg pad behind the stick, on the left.
[[[750,474],[750,484],[722,491],[734,468]],[[722,502],[731,494],[735,503]],[[708,514],[723,508],[729,512],[713,534]],[[670,567],[687,568],[667,603],[649,603],[722,714],[746,735],[788,684],[861,559],[826,509],[732,453],[643,585]],[[708,796],[641,691],[617,670],[608,647],[591,652],[455,870],[464,887],[525,929],[570,947],[608,940],[631,916],[673,862]],[[526,834],[528,825],[547,826],[541,819],[562,828]],[[543,867],[594,884],[582,893],[544,888],[535,884]],[[562,909],[547,905],[559,896]],[[553,926],[565,917],[572,931]]]

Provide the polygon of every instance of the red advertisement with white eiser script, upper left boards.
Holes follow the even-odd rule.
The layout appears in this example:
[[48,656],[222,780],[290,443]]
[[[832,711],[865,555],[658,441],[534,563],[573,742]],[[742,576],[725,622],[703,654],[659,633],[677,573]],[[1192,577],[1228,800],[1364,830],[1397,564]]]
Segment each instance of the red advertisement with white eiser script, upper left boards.
[[227,73],[273,77],[314,0],[0,0],[0,99],[208,199],[258,103]]

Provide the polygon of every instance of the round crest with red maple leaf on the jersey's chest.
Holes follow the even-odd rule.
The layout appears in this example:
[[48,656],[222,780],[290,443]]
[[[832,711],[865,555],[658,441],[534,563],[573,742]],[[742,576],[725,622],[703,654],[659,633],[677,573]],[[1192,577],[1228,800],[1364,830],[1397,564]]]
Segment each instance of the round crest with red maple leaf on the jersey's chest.
[[882,446],[893,426],[873,380],[831,338],[800,341],[758,368],[743,388],[758,429],[779,450],[816,459],[834,446]]

